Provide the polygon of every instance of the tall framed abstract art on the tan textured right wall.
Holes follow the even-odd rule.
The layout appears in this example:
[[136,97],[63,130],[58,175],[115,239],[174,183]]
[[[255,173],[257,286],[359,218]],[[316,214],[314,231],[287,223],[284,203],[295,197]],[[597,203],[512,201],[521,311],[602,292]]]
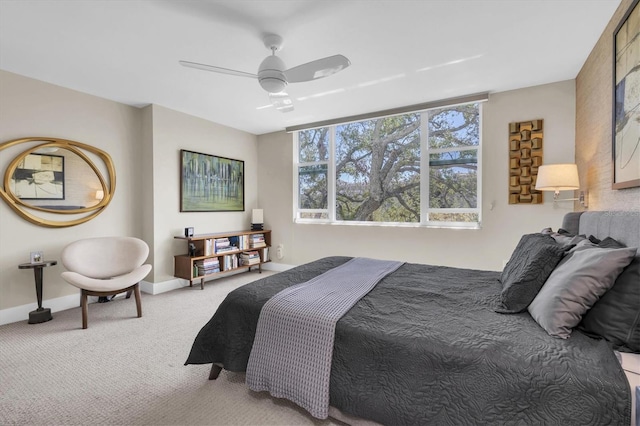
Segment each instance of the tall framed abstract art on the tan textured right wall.
[[640,186],[640,6],[613,32],[613,189]]

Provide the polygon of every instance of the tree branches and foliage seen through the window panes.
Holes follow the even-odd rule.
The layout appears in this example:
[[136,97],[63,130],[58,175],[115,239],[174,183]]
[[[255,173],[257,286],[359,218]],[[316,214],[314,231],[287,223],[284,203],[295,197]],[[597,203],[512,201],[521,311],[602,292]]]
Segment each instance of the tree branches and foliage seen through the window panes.
[[[421,137],[436,150],[429,156],[429,206],[476,207],[478,111],[476,104],[457,105],[336,126],[336,218],[419,222]],[[428,135],[421,135],[425,119]],[[300,161],[326,160],[333,129],[300,132]],[[323,167],[300,168],[301,208],[327,208]]]

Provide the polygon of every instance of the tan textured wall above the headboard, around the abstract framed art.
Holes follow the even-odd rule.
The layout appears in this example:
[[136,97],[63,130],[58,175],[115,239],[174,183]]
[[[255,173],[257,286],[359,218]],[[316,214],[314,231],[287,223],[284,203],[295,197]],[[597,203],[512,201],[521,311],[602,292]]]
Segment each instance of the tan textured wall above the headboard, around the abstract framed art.
[[576,78],[576,163],[589,210],[640,210],[640,188],[611,189],[613,32],[631,3],[622,0]]

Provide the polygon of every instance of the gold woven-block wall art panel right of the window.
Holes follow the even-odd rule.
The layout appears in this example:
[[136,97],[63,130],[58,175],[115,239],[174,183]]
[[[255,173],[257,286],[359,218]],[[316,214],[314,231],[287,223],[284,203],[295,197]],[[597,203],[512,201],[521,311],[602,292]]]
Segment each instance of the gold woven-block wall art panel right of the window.
[[509,204],[542,204],[536,191],[542,165],[542,120],[509,123]]

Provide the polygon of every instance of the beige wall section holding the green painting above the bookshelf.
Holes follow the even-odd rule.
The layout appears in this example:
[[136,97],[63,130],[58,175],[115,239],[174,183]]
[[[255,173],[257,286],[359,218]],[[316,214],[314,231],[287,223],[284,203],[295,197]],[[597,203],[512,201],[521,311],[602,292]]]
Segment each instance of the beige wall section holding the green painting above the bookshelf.
[[[184,228],[196,234],[235,231],[251,226],[251,209],[257,207],[257,137],[153,105],[153,239],[155,283],[173,280],[173,255],[187,253]],[[180,150],[214,154],[245,163],[245,211],[216,213],[180,212]]]

